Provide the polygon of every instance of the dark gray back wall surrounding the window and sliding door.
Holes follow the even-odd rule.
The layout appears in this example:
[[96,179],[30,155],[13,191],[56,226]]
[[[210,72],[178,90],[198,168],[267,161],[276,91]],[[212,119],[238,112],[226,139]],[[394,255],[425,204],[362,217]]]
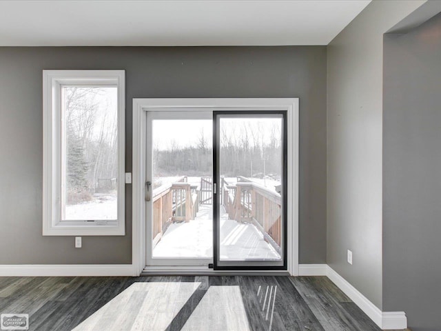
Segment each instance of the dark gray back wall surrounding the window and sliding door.
[[125,69],[134,97],[300,98],[300,263],[326,262],[326,47],[0,48],[0,264],[131,263],[125,237],[41,236],[43,69]]

